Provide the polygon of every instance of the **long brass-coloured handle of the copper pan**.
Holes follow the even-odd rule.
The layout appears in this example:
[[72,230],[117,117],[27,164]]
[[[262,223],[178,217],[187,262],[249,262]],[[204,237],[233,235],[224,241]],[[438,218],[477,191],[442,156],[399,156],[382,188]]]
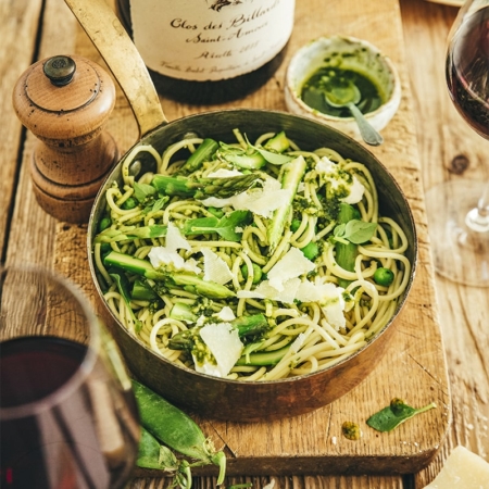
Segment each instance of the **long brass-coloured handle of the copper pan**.
[[166,124],[154,85],[136,46],[105,0],[65,0],[126,96],[139,136]]

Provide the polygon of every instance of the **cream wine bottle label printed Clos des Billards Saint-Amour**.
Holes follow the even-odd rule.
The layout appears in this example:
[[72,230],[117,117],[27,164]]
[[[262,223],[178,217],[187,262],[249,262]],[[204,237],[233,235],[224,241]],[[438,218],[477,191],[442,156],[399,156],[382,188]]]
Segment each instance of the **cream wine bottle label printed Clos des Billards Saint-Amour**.
[[193,82],[253,72],[289,40],[294,0],[130,0],[146,65]]

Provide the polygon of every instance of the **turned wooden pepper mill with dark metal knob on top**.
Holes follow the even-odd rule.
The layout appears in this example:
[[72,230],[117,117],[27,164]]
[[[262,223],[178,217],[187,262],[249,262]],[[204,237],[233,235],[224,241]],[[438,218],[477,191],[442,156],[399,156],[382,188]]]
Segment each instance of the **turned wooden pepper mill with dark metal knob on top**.
[[118,160],[115,141],[103,128],[115,105],[112,78],[85,58],[52,57],[20,77],[13,105],[38,139],[29,165],[37,202],[60,221],[87,223]]

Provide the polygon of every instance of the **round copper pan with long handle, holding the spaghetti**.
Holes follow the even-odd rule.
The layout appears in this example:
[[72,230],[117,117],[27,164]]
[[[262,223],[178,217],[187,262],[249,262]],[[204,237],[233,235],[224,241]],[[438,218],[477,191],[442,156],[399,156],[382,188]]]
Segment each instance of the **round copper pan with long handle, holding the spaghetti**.
[[[369,151],[331,127],[285,112],[226,110],[206,112],[167,122],[158,93],[136,47],[103,0],[65,0],[124,90],[140,129],[137,142],[163,151],[188,134],[217,140],[233,138],[239,127],[250,140],[285,130],[302,149],[329,147],[344,158],[363,162],[372,172],[379,192],[383,215],[397,220],[408,235],[408,258],[413,264],[408,290],[391,321],[368,344],[327,369],[284,380],[243,383],[227,380],[179,367],[152,352],[122,326],[104,305],[104,318],[120,344],[131,373],[168,401],[203,416],[233,422],[253,422],[303,414],[331,403],[367,377],[389,346],[401,310],[413,284],[417,260],[417,237],[410,205],[389,171]],[[130,150],[129,150],[130,151]],[[127,153],[126,153],[127,155]],[[88,229],[91,276],[103,302],[92,260],[96,225],[105,206],[105,190],[121,178],[124,155],[109,175],[95,201]],[[140,172],[153,164],[141,156]],[[103,302],[104,304],[104,302]],[[372,375],[375,375],[373,373]]]

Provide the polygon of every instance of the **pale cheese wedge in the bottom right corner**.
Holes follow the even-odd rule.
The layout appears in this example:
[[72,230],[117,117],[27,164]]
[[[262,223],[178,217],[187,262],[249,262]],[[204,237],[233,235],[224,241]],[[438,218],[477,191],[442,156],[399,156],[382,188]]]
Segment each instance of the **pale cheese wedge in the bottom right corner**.
[[456,447],[436,479],[424,489],[489,489],[489,463],[465,447]]

